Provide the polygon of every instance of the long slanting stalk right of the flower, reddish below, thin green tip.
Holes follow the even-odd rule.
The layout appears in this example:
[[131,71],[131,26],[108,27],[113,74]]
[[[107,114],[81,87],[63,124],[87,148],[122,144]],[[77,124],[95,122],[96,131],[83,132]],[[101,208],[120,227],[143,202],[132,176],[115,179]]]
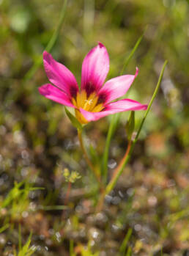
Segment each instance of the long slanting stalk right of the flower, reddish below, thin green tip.
[[160,76],[159,76],[158,81],[157,81],[157,85],[155,87],[155,91],[154,91],[154,93],[152,95],[152,98],[151,98],[151,100],[149,102],[149,105],[147,107],[147,111],[145,112],[144,117],[143,117],[143,119],[141,121],[141,125],[138,128],[138,132],[136,134],[136,138],[133,140],[133,142],[130,140],[130,142],[129,142],[128,146],[127,146],[127,150],[126,150],[125,156],[122,158],[119,166],[115,169],[114,174],[113,174],[110,182],[108,183],[108,185],[105,188],[105,192],[100,197],[99,203],[97,205],[97,211],[101,211],[102,210],[105,195],[108,194],[112,189],[114,189],[114,186],[116,186],[117,180],[119,179],[119,176],[122,174],[122,171],[125,168],[125,165],[130,160],[130,156],[133,153],[134,146],[136,145],[136,142],[138,141],[138,136],[141,133],[141,128],[144,125],[144,121],[147,118],[147,114],[149,113],[149,109],[151,108],[152,103],[153,103],[153,101],[155,99],[155,96],[157,95],[158,89],[160,88],[160,82],[161,82],[161,80],[163,78],[163,73],[164,73],[166,65],[167,65],[167,60],[163,64],[162,70],[160,72]]

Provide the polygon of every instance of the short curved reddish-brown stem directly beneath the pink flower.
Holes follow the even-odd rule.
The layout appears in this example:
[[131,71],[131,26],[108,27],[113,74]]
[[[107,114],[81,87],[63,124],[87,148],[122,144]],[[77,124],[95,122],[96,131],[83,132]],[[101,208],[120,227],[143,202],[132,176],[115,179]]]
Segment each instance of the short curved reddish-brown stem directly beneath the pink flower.
[[100,180],[99,172],[94,167],[94,165],[92,164],[92,161],[89,159],[89,156],[86,153],[86,149],[84,147],[84,142],[83,142],[83,137],[82,137],[82,131],[79,130],[79,129],[78,129],[78,140],[79,140],[79,143],[80,143],[80,146],[81,146],[81,150],[84,153],[84,158],[86,160],[86,163],[89,165],[90,169],[92,169],[92,171],[94,173],[94,176],[95,176],[95,178],[97,179],[97,182],[100,185],[100,190],[103,191],[103,186],[102,186],[102,183],[101,183],[101,180]]

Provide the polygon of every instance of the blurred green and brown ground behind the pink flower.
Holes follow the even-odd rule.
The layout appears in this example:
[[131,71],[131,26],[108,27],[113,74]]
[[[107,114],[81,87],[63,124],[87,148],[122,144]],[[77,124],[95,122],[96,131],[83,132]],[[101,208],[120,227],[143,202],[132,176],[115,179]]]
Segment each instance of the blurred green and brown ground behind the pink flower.
[[[76,130],[63,106],[42,97],[37,89],[48,81],[42,51],[59,26],[62,4],[60,0],[0,0],[0,254],[12,255],[18,249],[21,224],[23,242],[33,230],[34,255],[71,255],[72,246],[79,251],[78,245],[88,242],[100,256],[115,255],[132,228],[126,246],[132,255],[188,256],[188,1],[67,3],[51,54],[78,82],[84,56],[98,41],[108,49],[108,78],[112,78],[119,76],[145,31],[125,73],[139,68],[128,97],[149,103],[168,59],[133,158],[106,198],[105,211],[97,216],[92,210],[98,197],[91,192],[94,178],[79,150]],[[143,114],[136,113],[136,125]],[[126,120],[123,113],[111,142],[109,175],[125,152]],[[109,118],[86,126],[99,156],[108,126]],[[94,152],[92,159],[98,161]],[[56,205],[64,205],[64,168],[79,172],[81,179],[73,184],[69,210],[62,213]],[[22,180],[21,186],[15,184]],[[45,189],[32,191],[33,186]]]

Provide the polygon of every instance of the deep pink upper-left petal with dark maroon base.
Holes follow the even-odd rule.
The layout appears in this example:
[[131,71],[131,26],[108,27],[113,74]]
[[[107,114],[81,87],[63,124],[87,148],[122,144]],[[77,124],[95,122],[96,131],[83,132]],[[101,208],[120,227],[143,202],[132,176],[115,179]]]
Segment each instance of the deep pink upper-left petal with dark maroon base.
[[43,52],[43,63],[49,81],[70,97],[75,97],[78,92],[78,84],[73,73],[61,63],[56,62],[47,51]]

